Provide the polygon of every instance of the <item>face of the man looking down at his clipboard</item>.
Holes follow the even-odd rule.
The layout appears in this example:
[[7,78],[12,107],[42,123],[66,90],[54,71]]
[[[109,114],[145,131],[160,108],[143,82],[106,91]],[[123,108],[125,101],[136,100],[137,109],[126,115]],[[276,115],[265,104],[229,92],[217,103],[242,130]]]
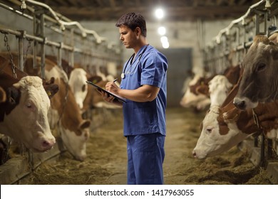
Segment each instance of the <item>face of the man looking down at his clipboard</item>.
[[119,31],[120,31],[120,41],[123,42],[125,48],[133,48],[137,40],[136,31],[132,31],[127,26],[120,26]]

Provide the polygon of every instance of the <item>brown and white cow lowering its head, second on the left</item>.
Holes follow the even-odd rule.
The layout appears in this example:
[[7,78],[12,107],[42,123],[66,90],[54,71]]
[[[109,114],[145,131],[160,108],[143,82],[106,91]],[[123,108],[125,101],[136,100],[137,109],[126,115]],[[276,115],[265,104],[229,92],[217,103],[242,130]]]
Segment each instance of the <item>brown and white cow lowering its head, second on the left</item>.
[[[91,122],[81,117],[68,76],[51,60],[46,59],[46,79],[54,77],[59,85],[59,92],[51,99],[51,109],[48,112],[51,127],[58,127],[61,139],[66,149],[79,161],[86,158],[86,143],[90,136]],[[56,126],[57,125],[57,126]]]

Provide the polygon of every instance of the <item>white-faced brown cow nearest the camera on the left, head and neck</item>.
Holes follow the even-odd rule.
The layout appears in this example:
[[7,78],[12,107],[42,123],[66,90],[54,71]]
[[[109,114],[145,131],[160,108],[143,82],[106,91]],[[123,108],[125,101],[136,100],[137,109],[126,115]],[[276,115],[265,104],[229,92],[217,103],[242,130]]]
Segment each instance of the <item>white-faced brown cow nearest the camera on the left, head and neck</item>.
[[6,101],[0,103],[1,134],[23,143],[34,152],[51,149],[55,138],[48,124],[50,99],[43,81],[17,68],[15,78],[9,60],[0,56],[0,63],[0,86],[6,92]]

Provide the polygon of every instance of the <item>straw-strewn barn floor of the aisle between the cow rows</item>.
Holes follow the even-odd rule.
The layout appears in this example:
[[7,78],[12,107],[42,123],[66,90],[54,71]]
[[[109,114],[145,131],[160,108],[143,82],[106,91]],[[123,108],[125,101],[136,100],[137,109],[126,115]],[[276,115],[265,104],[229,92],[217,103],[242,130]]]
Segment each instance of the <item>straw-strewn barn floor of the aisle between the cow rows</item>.
[[[200,136],[205,112],[167,109],[164,176],[166,185],[186,184],[271,184],[264,168],[254,166],[248,155],[235,146],[219,156],[197,160],[192,157]],[[114,110],[101,127],[92,129],[85,161],[67,152],[56,161],[41,164],[20,184],[124,185],[126,184],[126,142],[123,115]]]

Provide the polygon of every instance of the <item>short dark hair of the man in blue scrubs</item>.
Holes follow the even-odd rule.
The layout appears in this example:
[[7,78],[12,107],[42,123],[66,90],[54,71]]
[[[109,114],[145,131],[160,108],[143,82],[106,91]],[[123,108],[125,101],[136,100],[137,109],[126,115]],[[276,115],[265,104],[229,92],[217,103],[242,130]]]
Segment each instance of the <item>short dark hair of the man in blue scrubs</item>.
[[145,18],[140,14],[128,13],[121,16],[115,26],[128,26],[132,31],[139,27],[144,37],[147,36],[147,28],[145,25]]

